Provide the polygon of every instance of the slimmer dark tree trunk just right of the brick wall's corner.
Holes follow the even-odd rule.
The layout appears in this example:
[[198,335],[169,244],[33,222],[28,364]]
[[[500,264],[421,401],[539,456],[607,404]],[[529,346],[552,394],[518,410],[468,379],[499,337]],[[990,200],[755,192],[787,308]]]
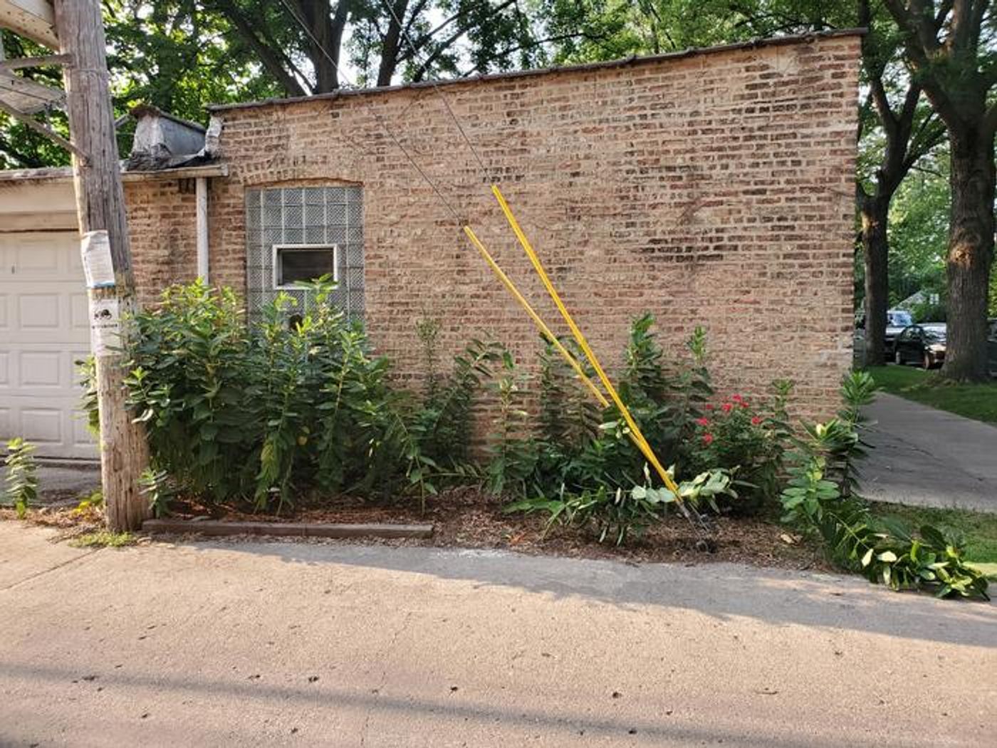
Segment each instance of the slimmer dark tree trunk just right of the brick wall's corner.
[[859,198],[862,221],[862,253],[865,261],[865,366],[885,361],[886,309],[889,306],[887,258],[889,244],[886,224],[889,199],[880,196]]

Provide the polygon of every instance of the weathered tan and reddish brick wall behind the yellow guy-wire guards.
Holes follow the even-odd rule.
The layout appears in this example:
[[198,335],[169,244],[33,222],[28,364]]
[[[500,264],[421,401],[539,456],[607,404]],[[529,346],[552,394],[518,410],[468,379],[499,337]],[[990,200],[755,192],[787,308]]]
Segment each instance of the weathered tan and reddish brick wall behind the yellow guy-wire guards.
[[532,365],[531,323],[380,117],[563,330],[489,182],[503,189],[607,364],[650,310],[674,355],[707,328],[721,392],[789,377],[797,412],[827,415],[851,359],[858,45],[845,35],[448,85],[488,176],[430,88],[223,110],[230,176],[212,187],[212,279],[245,287],[246,187],[360,184],[367,325],[400,374],[418,375],[426,315],[442,320],[445,353],[488,329]]

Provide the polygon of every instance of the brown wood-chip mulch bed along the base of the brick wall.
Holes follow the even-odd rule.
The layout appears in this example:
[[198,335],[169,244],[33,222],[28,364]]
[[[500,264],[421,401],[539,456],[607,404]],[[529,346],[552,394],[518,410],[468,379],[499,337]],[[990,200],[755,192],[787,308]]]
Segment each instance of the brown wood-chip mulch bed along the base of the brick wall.
[[[506,515],[498,499],[471,488],[453,489],[431,498],[425,514],[420,513],[418,502],[414,500],[385,504],[348,497],[308,499],[290,510],[285,509],[279,517],[253,513],[246,507],[236,505],[202,506],[192,502],[177,503],[175,510],[175,517],[187,519],[199,517],[277,523],[433,523],[435,526],[433,538],[426,540],[285,538],[280,539],[281,542],[500,549],[535,556],[629,562],[737,561],[782,568],[830,568],[815,546],[789,535],[786,528],[764,518],[716,518],[718,534],[714,553],[697,550],[699,536],[685,519],[677,515],[650,528],[642,538],[630,539],[625,547],[617,548],[611,543],[599,544],[575,528],[553,526],[544,535],[544,517]],[[0,510],[0,520],[13,519],[13,516],[12,511]],[[101,529],[100,517],[93,512],[81,515],[70,509],[50,508],[32,511],[29,519],[36,524],[59,529],[62,538]],[[158,538],[163,539],[164,536]],[[261,539],[255,537],[252,540]]]

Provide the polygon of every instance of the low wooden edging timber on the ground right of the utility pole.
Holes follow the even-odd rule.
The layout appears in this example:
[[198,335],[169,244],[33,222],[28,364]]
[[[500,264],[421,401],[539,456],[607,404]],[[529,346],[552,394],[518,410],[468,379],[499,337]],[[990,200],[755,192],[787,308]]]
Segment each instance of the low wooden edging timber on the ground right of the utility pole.
[[382,523],[225,522],[223,520],[146,520],[147,533],[209,536],[258,535],[297,538],[431,538],[432,525]]

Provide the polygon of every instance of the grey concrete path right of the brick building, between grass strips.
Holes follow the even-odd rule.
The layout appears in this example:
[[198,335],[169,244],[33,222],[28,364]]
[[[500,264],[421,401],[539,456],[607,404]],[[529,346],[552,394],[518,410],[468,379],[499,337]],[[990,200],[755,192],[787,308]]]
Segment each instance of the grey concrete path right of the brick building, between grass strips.
[[997,428],[884,392],[865,413],[863,496],[997,512]]

